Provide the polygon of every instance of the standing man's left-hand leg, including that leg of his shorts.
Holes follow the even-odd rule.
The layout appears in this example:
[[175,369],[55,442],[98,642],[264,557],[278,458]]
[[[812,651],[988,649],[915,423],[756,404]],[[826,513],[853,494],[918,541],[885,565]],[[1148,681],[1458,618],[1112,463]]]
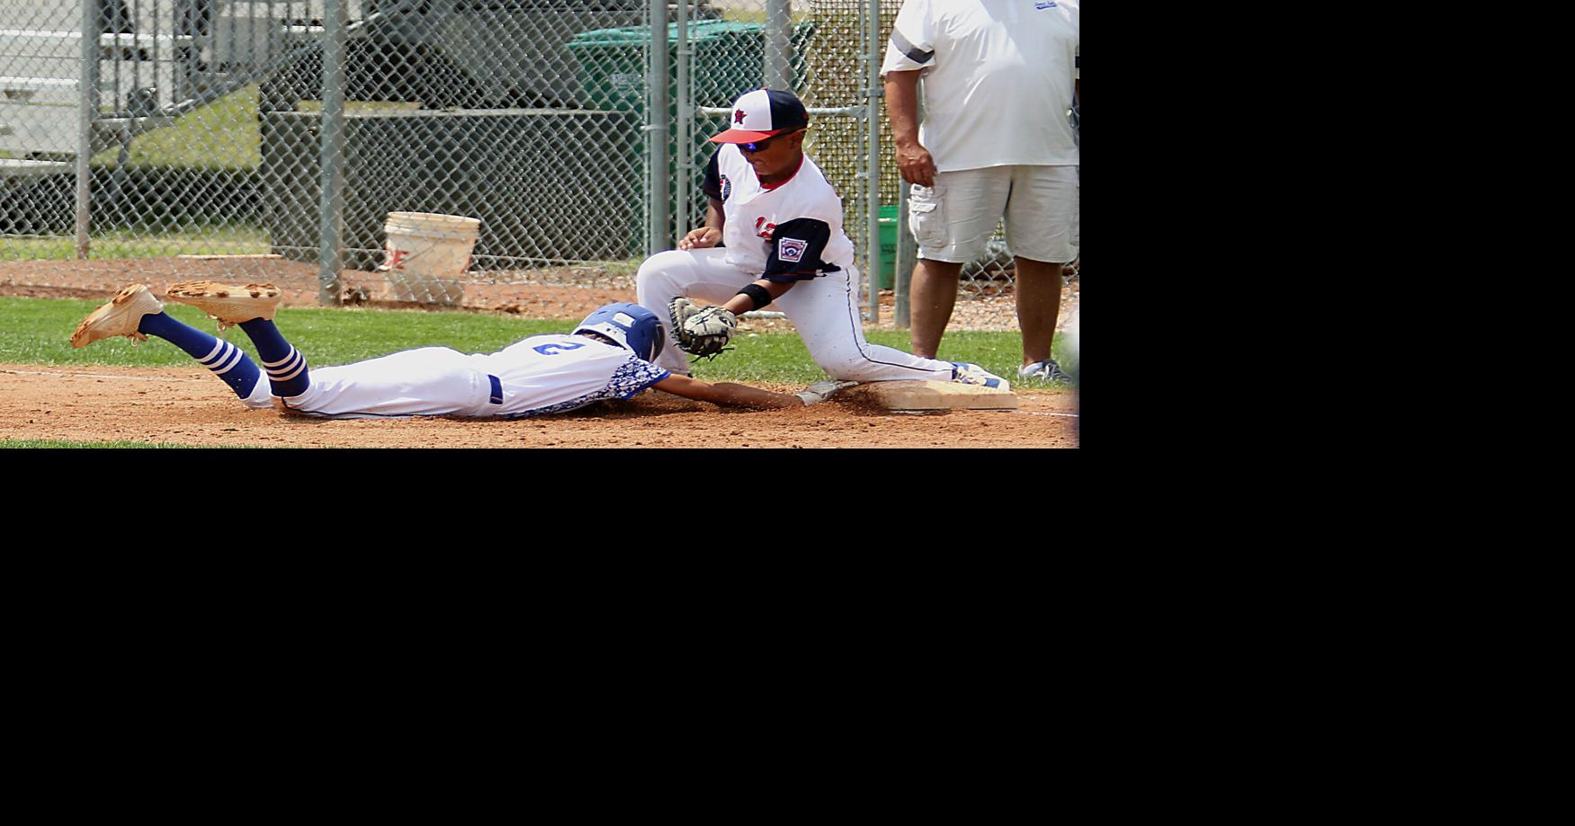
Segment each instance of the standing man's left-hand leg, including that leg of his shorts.
[[915,356],[934,359],[940,349],[962,266],[984,252],[1006,208],[1008,170],[940,171],[934,189],[912,187],[909,227],[918,242],[918,263],[909,288],[909,341]]

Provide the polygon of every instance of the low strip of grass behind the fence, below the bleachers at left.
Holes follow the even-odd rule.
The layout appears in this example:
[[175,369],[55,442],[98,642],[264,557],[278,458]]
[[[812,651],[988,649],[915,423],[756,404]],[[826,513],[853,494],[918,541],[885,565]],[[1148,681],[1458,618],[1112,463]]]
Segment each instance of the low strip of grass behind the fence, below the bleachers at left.
[[[192,223],[167,230],[101,230],[91,236],[93,258],[162,258],[169,255],[266,255],[268,230],[249,225]],[[0,261],[65,261],[77,256],[68,236],[3,238]]]

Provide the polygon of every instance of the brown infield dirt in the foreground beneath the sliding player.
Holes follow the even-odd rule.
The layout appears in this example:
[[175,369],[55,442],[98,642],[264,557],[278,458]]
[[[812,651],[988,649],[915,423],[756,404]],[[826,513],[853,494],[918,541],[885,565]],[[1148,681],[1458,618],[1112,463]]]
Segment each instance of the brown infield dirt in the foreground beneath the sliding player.
[[909,415],[838,401],[797,411],[726,411],[649,390],[628,401],[517,422],[317,420],[246,409],[197,367],[0,365],[0,434],[205,447],[1079,447],[1077,401],[1069,390],[1017,396],[1017,411]]

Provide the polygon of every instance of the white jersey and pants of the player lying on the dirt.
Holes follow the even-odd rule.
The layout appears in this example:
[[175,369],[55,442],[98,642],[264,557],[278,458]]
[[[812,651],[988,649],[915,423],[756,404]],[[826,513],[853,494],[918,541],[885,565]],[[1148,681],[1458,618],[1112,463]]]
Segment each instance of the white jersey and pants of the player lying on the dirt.
[[[282,400],[328,419],[463,415],[524,419],[630,398],[669,373],[584,335],[532,335],[493,354],[419,348],[312,368],[306,393]],[[265,379],[266,384],[266,379]]]

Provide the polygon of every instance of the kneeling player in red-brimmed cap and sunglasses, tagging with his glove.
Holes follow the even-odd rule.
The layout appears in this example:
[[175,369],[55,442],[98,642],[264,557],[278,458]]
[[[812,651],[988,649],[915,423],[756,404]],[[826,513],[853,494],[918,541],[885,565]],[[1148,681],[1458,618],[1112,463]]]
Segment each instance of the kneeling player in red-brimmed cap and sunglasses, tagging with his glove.
[[680,349],[715,356],[731,341],[739,313],[775,304],[833,379],[1011,389],[975,363],[920,359],[865,341],[843,198],[803,153],[810,115],[794,93],[743,94],[732,104],[731,126],[710,138],[721,146],[706,167],[706,227],[639,267],[639,304],[668,332],[657,365],[688,374]]

